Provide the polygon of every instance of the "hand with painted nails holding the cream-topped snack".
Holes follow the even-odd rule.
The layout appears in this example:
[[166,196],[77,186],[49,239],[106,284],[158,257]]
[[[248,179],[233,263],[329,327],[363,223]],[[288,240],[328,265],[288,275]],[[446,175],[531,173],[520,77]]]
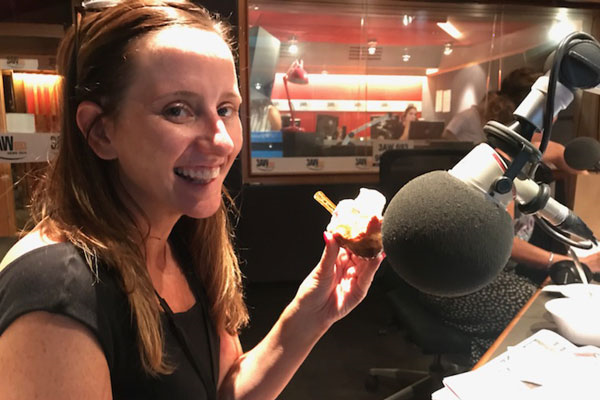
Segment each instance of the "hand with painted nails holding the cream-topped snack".
[[295,301],[298,312],[328,327],[365,298],[384,255],[364,259],[341,248],[331,233],[323,236],[323,256],[300,285]]

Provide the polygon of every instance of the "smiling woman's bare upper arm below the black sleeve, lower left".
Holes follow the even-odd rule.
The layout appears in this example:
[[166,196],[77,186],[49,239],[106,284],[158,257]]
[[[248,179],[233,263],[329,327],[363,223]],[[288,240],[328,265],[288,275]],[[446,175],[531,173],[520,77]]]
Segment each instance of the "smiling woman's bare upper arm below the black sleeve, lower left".
[[94,335],[71,318],[41,311],[19,317],[0,336],[0,388],[5,400],[112,399]]

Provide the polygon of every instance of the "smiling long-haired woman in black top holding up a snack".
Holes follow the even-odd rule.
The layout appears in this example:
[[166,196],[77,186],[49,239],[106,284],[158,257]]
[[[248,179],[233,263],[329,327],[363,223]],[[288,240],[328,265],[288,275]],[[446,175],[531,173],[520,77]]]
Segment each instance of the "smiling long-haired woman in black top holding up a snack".
[[326,233],[243,353],[223,180],[242,146],[227,30],[187,1],[87,12],[59,49],[63,134],[35,228],[0,265],[5,398],[274,399],[366,295],[381,256]]

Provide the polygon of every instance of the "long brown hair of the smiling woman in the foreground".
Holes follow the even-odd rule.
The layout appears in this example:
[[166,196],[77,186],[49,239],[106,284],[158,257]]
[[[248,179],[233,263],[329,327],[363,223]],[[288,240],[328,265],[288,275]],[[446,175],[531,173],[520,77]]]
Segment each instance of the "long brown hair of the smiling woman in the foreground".
[[[90,268],[95,269],[100,260],[118,273],[137,330],[142,365],[153,375],[169,373],[172,368],[163,357],[160,309],[146,268],[148,232],[139,229],[120,196],[126,192],[116,174],[116,161],[96,156],[87,143],[89,132],[79,131],[75,114],[82,101],[99,104],[105,116],[118,113],[119,101],[134,74],[129,57],[132,43],[172,25],[216,32],[231,46],[223,22],[202,7],[176,0],[125,0],[89,12],[78,32],[74,27],[67,32],[58,52],[59,73],[64,77],[59,152],[32,203],[33,220],[42,233],[81,248]],[[207,291],[217,330],[235,334],[247,323],[248,312],[228,222],[232,207],[223,190],[215,215],[182,217],[176,229]],[[137,211],[141,212],[139,207]]]

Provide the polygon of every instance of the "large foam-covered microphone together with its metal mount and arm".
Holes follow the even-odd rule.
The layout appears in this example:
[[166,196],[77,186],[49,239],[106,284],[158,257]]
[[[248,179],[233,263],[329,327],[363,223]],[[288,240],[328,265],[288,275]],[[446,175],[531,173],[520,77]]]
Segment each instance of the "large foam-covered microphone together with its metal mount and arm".
[[[590,35],[569,34],[548,75],[515,110],[511,126],[488,122],[489,145],[478,145],[450,171],[430,172],[404,185],[389,202],[382,224],[383,248],[396,273],[438,296],[483,288],[511,254],[514,232],[506,207],[513,197],[555,238],[591,247],[563,234],[596,242],[579,217],[550,197],[547,185],[529,178],[550,140],[554,117],[573,100],[575,89],[594,87],[600,87],[600,45]],[[543,133],[539,148],[530,142],[536,131]],[[508,155],[508,166],[490,145]]]

